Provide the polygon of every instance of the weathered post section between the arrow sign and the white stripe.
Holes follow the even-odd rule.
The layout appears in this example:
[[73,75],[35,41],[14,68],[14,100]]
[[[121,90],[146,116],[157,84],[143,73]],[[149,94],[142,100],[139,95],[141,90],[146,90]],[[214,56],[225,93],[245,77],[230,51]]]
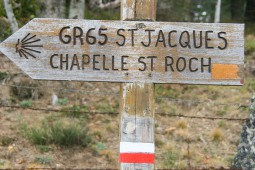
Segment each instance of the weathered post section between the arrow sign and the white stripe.
[[154,143],[154,85],[123,84],[120,108],[121,141]]

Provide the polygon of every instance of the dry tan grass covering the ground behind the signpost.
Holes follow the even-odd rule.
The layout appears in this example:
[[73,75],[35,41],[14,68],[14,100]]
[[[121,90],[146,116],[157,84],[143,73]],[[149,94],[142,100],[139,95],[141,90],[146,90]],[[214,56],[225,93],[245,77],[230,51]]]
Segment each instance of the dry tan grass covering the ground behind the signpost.
[[[252,59],[252,57],[250,57],[250,59]],[[14,66],[8,66],[8,68],[13,67]],[[8,68],[6,68],[6,70],[8,70]],[[0,71],[2,72],[1,69]],[[11,84],[13,80],[10,81]],[[48,82],[45,83],[42,81],[38,84],[47,87]],[[57,116],[48,117],[48,112],[29,111],[26,108],[23,110],[0,109],[0,113],[3,113],[0,115],[1,132],[4,132],[4,135],[14,137],[15,141],[11,142],[11,144],[15,144],[17,148],[22,148],[22,150],[12,155],[10,164],[14,165],[15,162],[13,162],[13,160],[20,159],[24,155],[31,155],[29,158],[25,158],[27,163],[15,164],[17,167],[9,167],[9,169],[31,167],[31,163],[35,163],[35,157],[44,155],[51,155],[52,158],[54,158],[50,162],[52,167],[55,167],[56,164],[62,164],[63,168],[117,168],[119,153],[118,116],[99,114],[89,114],[85,116],[81,114],[81,111],[117,110],[118,104],[116,101],[118,101],[119,96],[111,94],[109,94],[109,96],[101,95],[100,92],[114,92],[118,94],[119,84],[49,82],[49,85],[57,88],[56,94],[59,98],[65,99],[60,102],[57,107],[60,109],[73,109],[76,112],[74,114],[59,115],[57,113],[52,113],[52,115]],[[248,110],[238,109],[236,105],[232,106],[231,104],[240,103],[242,105],[248,105],[249,97],[254,87],[253,76],[250,76],[246,84],[242,87],[156,84],[156,112],[194,116],[243,118],[247,116]],[[77,89],[85,93],[68,92],[68,90],[58,91],[58,88]],[[39,97],[38,100],[33,99],[32,107],[51,107],[51,96],[48,95],[51,94],[51,91],[52,89],[45,89],[45,94],[43,96]],[[18,95],[21,96],[21,94]],[[18,105],[24,100],[24,98],[19,100],[16,96],[14,96],[15,100],[13,100],[11,96],[12,93],[8,87],[3,87],[0,91],[0,97],[3,101],[12,101],[13,104]],[[30,96],[29,99],[31,97],[32,96]],[[169,99],[159,99],[160,97],[169,97]],[[229,106],[224,108],[224,106],[218,105],[218,103],[229,104]],[[18,116],[26,119],[29,126],[33,124],[40,126],[40,122],[45,120],[45,117],[47,117],[49,123],[61,121],[63,119],[74,122],[74,120],[81,120],[87,117],[89,135],[94,143],[88,147],[80,147],[78,145],[71,149],[68,147],[59,147],[54,144],[44,145],[45,147],[35,147],[32,142],[28,142],[26,138],[23,138],[15,132],[16,129],[13,127],[17,124],[16,119]],[[242,122],[175,118],[157,114],[155,115],[155,120],[157,123],[157,130],[155,132],[157,158],[155,166],[157,168],[170,167],[185,169],[188,167],[187,160],[191,161],[192,167],[199,167],[201,169],[208,167],[229,168],[228,157],[234,157],[235,155],[233,150],[235,150],[238,145]],[[2,135],[3,134],[1,134],[1,136]],[[9,140],[4,140],[3,143],[9,143]],[[189,153],[187,151],[187,143],[190,143]],[[169,145],[171,146],[169,147]],[[0,161],[3,159],[1,149],[6,149],[7,147],[8,146],[0,147]],[[38,155],[39,153],[43,155]],[[47,162],[47,160],[44,161],[40,159],[39,162]],[[8,161],[6,161],[5,165],[7,164]],[[38,165],[36,166],[38,167]]]

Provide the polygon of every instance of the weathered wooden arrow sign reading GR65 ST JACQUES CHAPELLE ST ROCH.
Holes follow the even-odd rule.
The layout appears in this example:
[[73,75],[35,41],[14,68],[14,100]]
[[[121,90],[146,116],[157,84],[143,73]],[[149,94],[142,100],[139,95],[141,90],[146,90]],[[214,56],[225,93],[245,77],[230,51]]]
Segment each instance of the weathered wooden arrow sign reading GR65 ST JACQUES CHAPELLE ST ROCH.
[[241,85],[244,25],[33,19],[0,50],[33,79]]

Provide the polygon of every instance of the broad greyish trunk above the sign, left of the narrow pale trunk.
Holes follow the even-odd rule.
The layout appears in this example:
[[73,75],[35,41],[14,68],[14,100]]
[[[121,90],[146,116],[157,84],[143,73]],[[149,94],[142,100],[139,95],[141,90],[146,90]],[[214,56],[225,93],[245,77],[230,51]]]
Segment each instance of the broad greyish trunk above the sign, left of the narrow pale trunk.
[[40,18],[66,18],[66,0],[40,0]]

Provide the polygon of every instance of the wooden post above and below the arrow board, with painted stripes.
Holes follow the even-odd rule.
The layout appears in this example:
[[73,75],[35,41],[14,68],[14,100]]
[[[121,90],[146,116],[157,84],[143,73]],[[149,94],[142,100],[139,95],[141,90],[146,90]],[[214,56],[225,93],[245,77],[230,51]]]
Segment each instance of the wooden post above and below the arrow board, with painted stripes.
[[[121,19],[155,21],[156,0],[122,0]],[[124,83],[120,97],[120,169],[152,170],[154,84]]]

